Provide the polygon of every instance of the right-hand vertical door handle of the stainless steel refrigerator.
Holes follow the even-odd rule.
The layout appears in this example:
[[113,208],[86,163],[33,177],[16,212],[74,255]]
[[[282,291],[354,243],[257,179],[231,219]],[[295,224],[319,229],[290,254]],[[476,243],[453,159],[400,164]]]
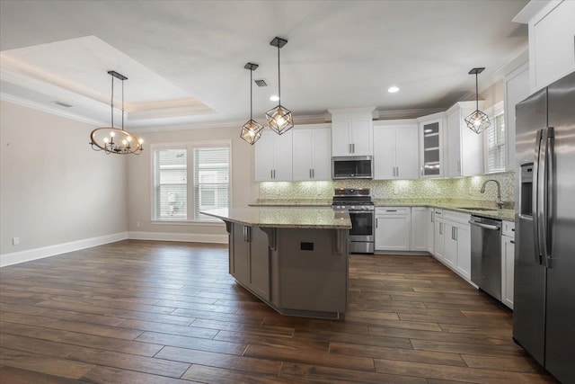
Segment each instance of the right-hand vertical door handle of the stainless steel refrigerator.
[[543,221],[543,230],[542,230],[542,237],[544,239],[544,265],[547,268],[551,268],[551,258],[553,255],[552,250],[552,228],[550,223],[552,221],[552,213],[553,213],[553,156],[554,156],[554,144],[555,144],[555,131],[553,127],[548,127],[546,132],[545,138],[545,146],[544,146],[544,189],[543,189],[543,213],[544,213],[544,221]]

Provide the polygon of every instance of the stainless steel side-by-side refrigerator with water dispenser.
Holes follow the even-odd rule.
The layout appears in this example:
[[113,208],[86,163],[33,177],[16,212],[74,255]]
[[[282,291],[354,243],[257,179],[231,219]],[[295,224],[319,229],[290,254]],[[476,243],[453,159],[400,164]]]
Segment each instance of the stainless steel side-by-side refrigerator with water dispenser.
[[575,382],[575,72],[516,106],[513,338]]

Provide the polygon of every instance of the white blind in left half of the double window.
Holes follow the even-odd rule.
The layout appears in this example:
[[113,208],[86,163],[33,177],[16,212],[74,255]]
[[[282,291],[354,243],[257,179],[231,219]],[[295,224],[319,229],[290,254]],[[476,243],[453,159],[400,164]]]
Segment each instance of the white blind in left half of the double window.
[[154,219],[188,219],[186,148],[154,151]]

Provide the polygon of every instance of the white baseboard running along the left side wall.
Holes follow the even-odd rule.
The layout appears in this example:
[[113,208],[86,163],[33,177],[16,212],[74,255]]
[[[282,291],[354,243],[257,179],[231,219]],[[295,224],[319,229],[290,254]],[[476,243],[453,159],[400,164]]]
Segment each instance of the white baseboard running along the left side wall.
[[40,248],[28,249],[20,252],[0,255],[0,267],[17,263],[29,262],[31,260],[44,257],[66,254],[66,252],[78,251],[92,246],[102,246],[103,244],[115,241],[126,240],[128,232],[119,232],[101,237],[84,238],[82,240],[71,241],[69,243],[57,244],[55,246],[42,246]]

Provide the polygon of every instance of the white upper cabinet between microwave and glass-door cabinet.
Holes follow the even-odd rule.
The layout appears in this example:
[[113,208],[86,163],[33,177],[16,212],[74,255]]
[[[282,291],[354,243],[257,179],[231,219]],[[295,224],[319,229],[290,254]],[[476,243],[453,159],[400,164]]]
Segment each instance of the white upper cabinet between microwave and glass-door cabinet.
[[419,130],[415,120],[374,122],[374,178],[419,178]]

